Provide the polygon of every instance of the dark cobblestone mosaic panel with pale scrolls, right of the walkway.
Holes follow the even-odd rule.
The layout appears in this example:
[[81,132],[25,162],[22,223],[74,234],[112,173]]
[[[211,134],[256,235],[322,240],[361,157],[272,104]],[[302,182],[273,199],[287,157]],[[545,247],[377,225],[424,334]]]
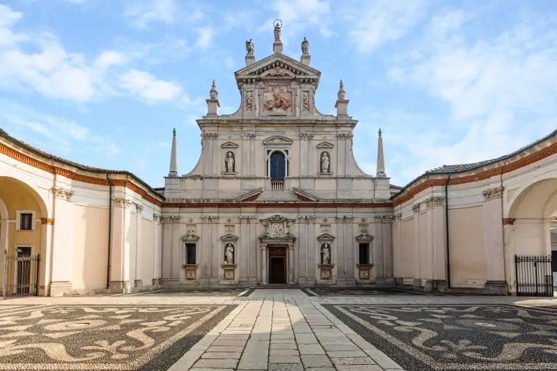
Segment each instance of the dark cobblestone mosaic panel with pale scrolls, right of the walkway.
[[326,305],[408,371],[557,370],[557,311],[519,306]]

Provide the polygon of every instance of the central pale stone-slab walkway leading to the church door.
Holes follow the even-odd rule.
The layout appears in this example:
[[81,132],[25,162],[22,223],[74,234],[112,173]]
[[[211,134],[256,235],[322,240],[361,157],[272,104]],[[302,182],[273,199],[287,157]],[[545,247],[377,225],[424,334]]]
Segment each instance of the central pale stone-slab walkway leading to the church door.
[[169,371],[402,371],[300,290],[257,290]]

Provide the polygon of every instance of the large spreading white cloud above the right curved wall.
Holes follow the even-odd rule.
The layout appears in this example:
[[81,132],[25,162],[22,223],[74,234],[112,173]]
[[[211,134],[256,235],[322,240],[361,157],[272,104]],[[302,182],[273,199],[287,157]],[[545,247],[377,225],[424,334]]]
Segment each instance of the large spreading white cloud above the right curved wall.
[[400,164],[407,180],[443,164],[505,155],[557,126],[557,33],[547,19],[525,18],[480,39],[460,28],[471,19],[454,12],[434,16],[413,53],[419,57],[389,71],[449,109],[448,117],[422,124],[425,132],[402,130],[402,146],[414,159]]

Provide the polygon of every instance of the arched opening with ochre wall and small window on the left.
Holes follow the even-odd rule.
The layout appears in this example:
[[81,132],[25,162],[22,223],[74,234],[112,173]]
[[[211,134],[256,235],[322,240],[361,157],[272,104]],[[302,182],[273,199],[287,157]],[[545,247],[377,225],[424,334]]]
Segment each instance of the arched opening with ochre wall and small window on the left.
[[0,177],[0,249],[5,251],[0,287],[6,295],[35,294],[44,287],[42,225],[46,220],[46,205],[32,187],[13,177]]

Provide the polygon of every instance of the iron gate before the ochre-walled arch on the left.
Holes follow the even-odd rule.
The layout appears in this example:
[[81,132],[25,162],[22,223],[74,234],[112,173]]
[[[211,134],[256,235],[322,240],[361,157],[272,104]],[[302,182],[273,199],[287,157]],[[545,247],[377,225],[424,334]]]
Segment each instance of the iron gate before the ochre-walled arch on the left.
[[6,255],[4,262],[3,297],[38,295],[39,254]]

